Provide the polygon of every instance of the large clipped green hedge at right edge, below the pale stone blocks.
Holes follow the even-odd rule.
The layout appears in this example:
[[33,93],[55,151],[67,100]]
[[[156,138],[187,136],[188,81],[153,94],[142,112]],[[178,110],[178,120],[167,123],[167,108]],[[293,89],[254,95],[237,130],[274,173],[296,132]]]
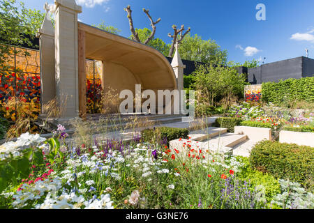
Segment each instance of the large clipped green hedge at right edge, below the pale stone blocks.
[[313,188],[313,147],[261,141],[252,149],[249,160],[252,168]]

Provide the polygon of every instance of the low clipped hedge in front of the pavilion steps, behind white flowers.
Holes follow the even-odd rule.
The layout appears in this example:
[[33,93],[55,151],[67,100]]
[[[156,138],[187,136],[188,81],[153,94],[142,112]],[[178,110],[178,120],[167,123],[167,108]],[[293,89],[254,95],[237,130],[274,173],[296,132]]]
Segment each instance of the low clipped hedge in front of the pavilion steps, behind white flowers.
[[157,127],[154,129],[146,129],[141,131],[142,140],[147,142],[160,142],[167,139],[167,146],[169,142],[174,139],[188,138],[188,130],[185,128],[170,128],[170,127]]

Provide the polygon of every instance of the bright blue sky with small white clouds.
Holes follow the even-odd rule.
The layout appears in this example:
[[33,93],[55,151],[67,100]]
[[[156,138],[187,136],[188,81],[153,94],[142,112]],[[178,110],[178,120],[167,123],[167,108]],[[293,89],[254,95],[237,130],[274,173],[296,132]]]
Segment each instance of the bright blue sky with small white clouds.
[[[43,10],[43,4],[53,0],[22,0],[27,8]],[[133,10],[136,28],[150,28],[148,8],[156,25],[157,38],[171,43],[167,33],[172,24],[190,26],[191,34],[204,40],[216,40],[227,49],[228,61],[244,62],[263,59],[264,63],[305,56],[314,58],[314,1],[313,0],[76,0],[83,8],[78,16],[86,24],[102,20],[121,30],[120,35],[130,36],[124,8]],[[257,21],[258,3],[266,6],[266,21]]]

